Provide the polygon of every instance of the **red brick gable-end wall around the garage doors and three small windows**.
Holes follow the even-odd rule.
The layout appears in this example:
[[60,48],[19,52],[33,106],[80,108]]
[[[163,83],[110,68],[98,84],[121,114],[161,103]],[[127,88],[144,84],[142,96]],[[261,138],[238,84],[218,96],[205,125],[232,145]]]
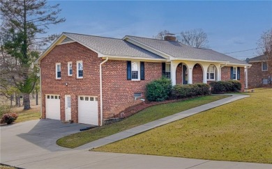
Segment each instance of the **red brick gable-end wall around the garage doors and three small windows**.
[[[83,61],[83,79],[77,79],[77,61]],[[54,47],[40,62],[43,118],[46,118],[45,94],[61,95],[61,121],[65,120],[65,95],[71,95],[72,120],[77,122],[78,95],[98,96],[98,100],[100,99],[99,63],[101,61],[98,54],[77,42]],[[71,77],[68,77],[68,62],[73,62]],[[61,63],[61,79],[56,79],[56,63]],[[68,86],[65,85],[66,82]]]

